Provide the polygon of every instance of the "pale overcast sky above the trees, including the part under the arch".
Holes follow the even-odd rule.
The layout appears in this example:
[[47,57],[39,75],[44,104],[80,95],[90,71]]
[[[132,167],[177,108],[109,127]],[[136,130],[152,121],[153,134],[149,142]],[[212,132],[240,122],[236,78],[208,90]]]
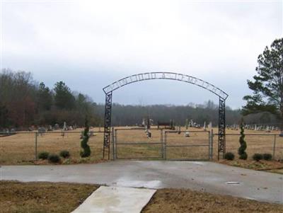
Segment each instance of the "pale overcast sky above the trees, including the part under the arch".
[[[131,74],[175,71],[219,86],[232,108],[250,93],[257,57],[282,38],[282,1],[1,1],[1,67],[104,102],[102,88]],[[156,80],[125,86],[113,101],[217,101],[202,88]]]

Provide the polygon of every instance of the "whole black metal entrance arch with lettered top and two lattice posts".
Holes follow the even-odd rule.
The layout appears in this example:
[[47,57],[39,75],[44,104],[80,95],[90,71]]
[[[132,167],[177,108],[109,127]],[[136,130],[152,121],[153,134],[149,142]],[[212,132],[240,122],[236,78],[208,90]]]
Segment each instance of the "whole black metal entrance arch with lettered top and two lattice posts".
[[105,157],[105,148],[108,149],[108,159],[110,159],[112,92],[115,91],[117,88],[126,86],[127,84],[132,84],[137,81],[146,81],[153,79],[169,79],[175,81],[184,81],[189,84],[200,86],[219,97],[218,159],[219,159],[219,154],[222,154],[222,156],[224,156],[225,147],[226,147],[225,100],[226,98],[228,98],[228,94],[222,91],[220,88],[212,84],[209,84],[207,81],[203,81],[202,79],[197,79],[193,76],[178,74],[174,72],[146,72],[141,74],[134,74],[132,76],[127,76],[124,79],[115,81],[112,84],[109,84],[108,86],[105,86],[105,88],[103,88],[103,91],[105,93],[103,159]]

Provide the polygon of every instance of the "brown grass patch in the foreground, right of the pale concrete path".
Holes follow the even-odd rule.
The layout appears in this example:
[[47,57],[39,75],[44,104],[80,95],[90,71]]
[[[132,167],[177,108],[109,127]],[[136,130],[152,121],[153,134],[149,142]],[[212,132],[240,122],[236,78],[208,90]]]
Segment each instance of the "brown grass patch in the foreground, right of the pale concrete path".
[[282,212],[282,205],[184,189],[157,190],[142,212]]

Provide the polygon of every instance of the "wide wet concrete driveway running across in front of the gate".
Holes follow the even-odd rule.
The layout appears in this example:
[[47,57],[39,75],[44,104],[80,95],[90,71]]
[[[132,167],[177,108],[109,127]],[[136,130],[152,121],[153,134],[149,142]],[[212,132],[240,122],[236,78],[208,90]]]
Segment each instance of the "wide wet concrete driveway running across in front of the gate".
[[59,166],[1,166],[0,180],[189,188],[283,204],[283,175],[197,161],[110,161]]

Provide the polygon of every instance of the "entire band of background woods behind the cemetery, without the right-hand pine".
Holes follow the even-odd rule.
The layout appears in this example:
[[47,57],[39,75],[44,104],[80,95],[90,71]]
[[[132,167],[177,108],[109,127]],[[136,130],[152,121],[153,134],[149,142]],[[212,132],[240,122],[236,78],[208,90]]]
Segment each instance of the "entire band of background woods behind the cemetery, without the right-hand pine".
[[[32,74],[25,71],[4,69],[0,73],[0,129],[16,127],[24,129],[32,125],[83,126],[87,117],[89,125],[103,127],[104,104],[97,104],[82,93],[71,91],[63,81],[53,88],[37,83]],[[218,124],[218,105],[212,100],[203,104],[188,105],[112,105],[112,125],[140,125],[143,118],[149,117],[154,124],[174,120],[176,125],[185,125],[185,120]],[[226,108],[226,124],[238,124],[241,110]],[[275,123],[270,113],[248,115],[245,122],[250,124]]]

